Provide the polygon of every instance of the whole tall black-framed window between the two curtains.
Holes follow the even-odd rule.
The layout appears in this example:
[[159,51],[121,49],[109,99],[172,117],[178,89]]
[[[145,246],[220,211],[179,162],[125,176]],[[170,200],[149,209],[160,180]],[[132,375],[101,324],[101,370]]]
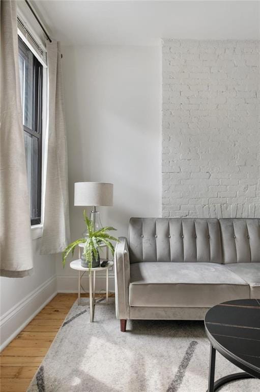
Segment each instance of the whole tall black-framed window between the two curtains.
[[37,225],[41,223],[43,67],[20,37],[18,48],[27,181],[31,197],[31,225]]

